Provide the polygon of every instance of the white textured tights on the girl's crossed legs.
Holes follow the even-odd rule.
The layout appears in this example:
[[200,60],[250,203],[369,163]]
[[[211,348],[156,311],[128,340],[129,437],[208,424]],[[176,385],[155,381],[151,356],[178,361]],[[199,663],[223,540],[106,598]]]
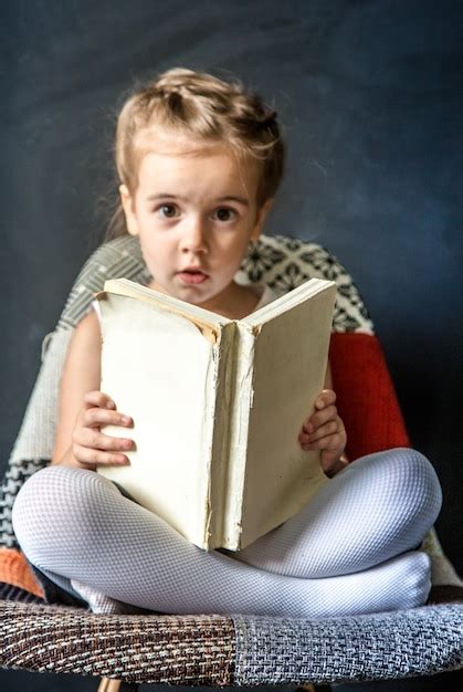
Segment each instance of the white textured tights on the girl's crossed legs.
[[299,514],[240,553],[207,553],[108,480],[49,466],[23,485],[13,527],[28,559],[93,610],[320,618],[422,605],[421,541],[441,507],[434,470],[394,449],[355,461]]

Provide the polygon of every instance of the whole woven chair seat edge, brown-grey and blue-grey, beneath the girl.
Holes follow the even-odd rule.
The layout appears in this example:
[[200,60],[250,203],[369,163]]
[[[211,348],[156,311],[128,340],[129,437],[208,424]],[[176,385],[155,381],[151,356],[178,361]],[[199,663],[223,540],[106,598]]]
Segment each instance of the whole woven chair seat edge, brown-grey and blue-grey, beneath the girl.
[[1,664],[127,682],[262,685],[433,674],[462,665],[463,605],[324,620],[95,615],[0,605]]

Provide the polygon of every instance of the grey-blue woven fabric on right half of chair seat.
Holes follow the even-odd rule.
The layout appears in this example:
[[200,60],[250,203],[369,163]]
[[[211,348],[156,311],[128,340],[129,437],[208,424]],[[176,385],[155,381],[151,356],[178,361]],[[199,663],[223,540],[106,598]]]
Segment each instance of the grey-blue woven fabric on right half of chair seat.
[[463,665],[463,605],[317,621],[233,620],[240,685],[407,678]]

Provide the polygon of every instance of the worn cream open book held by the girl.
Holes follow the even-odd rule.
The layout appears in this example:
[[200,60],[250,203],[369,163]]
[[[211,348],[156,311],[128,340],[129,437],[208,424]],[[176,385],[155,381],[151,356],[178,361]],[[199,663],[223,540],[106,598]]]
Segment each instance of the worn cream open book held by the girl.
[[229,319],[126,279],[106,281],[102,391],[133,428],[128,466],[98,466],[202,548],[236,551],[327,482],[298,433],[322,391],[336,286],[312,279]]

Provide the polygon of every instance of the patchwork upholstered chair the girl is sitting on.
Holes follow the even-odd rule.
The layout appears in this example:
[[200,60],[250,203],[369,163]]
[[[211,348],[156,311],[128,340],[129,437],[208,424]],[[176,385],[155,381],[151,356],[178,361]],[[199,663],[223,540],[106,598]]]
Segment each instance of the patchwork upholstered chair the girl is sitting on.
[[[42,366],[0,494],[1,665],[103,677],[102,691],[120,684],[135,689],[138,683],[329,684],[461,668],[461,602],[323,620],[240,614],[101,615],[75,602],[57,602],[46,585],[35,580],[12,531],[12,504],[22,483],[50,461],[57,386],[70,337],[93,294],[114,276],[148,280],[136,239],[116,239],[92,255],[56,329],[43,343]],[[330,361],[350,458],[408,445],[372,323],[349,274],[333,255],[314,243],[262,237],[238,280],[265,282],[285,292],[311,276],[333,280],[338,289]],[[462,583],[435,532],[428,535],[424,549],[432,559],[432,593],[440,591],[439,599],[461,598]]]

